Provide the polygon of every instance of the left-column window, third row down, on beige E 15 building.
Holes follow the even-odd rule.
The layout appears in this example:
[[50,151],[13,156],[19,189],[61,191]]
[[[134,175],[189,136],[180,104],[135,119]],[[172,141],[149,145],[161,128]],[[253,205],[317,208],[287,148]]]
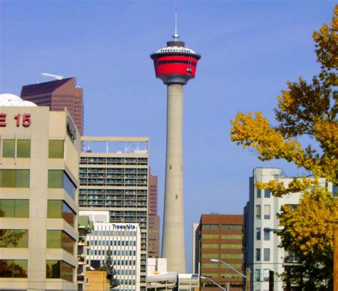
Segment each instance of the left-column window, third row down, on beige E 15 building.
[[1,218],[28,218],[29,200],[0,199]]

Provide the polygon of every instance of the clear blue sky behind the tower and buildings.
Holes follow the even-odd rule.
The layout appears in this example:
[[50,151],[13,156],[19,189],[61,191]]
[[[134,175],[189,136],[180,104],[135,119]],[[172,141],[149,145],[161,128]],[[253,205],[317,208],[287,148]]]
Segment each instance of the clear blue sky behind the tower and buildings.
[[[203,213],[242,214],[262,163],[230,141],[230,119],[262,111],[273,119],[285,81],[319,71],[312,32],[332,18],[334,1],[177,1],[178,34],[202,54],[184,88],[185,249]],[[148,136],[163,213],[166,88],[150,53],[174,30],[174,1],[0,1],[0,93],[76,76],[84,91],[86,136]]]

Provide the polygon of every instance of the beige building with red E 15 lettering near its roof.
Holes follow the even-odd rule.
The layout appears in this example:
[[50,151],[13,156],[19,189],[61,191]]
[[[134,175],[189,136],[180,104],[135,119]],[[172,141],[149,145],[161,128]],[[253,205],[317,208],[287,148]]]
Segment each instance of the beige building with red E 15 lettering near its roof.
[[77,289],[79,136],[68,111],[0,107],[1,288]]

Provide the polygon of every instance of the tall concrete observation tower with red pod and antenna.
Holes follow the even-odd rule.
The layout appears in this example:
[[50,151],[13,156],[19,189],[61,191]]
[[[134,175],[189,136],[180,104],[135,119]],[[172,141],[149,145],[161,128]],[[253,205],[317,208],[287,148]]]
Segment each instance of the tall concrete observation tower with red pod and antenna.
[[178,41],[176,14],[174,41],[150,55],[156,78],[167,85],[167,152],[162,257],[168,270],[185,273],[183,218],[183,85],[195,77],[200,55]]

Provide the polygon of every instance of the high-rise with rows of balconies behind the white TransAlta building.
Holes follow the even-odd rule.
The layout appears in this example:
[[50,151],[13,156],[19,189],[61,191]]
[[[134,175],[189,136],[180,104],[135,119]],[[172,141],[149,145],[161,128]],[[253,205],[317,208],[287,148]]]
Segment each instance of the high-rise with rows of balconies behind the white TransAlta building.
[[110,223],[140,226],[140,290],[148,256],[148,138],[82,137],[80,210],[109,211]]

